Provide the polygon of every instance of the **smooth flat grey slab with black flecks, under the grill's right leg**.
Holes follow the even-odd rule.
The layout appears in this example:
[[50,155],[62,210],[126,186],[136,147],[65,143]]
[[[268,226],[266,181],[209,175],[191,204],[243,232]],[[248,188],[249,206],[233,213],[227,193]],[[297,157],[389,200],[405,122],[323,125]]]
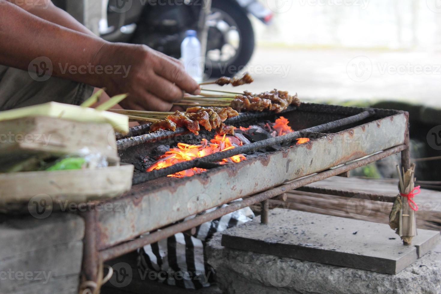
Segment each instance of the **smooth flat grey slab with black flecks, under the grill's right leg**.
[[222,246],[397,274],[430,251],[439,238],[438,231],[418,230],[413,245],[404,246],[386,224],[274,209],[267,225],[258,217],[225,231]]

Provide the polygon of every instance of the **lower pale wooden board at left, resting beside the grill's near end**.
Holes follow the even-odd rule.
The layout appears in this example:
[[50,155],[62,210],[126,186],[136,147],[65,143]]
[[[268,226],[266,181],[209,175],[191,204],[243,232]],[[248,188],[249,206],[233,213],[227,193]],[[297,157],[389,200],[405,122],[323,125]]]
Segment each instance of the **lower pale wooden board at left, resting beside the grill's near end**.
[[[0,174],[0,211],[29,209],[34,199],[45,199],[58,209],[66,203],[82,203],[116,197],[131,189],[133,165],[67,171],[28,171]],[[24,206],[23,206],[24,205]]]

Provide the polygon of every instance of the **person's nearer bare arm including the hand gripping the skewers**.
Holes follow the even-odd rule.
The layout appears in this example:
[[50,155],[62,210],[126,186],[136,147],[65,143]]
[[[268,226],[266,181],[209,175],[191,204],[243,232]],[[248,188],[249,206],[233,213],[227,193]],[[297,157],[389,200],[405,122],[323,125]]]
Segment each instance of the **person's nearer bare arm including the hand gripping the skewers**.
[[106,87],[109,95],[130,93],[121,102],[130,109],[167,111],[182,99],[182,90],[200,91],[179,61],[147,46],[109,43],[45,21],[6,0],[0,6],[0,64],[28,70],[31,61],[45,56],[54,76]]

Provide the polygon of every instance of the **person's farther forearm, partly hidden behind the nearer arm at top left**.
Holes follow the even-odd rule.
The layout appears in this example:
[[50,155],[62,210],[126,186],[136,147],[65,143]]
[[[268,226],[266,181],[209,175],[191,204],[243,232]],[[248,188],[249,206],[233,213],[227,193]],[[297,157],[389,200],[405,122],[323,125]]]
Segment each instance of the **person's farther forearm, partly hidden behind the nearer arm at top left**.
[[95,36],[90,30],[78,22],[75,18],[69,15],[66,11],[56,7],[51,0],[7,0],[12,4],[28,11],[49,22],[64,26],[77,32],[86,33]]

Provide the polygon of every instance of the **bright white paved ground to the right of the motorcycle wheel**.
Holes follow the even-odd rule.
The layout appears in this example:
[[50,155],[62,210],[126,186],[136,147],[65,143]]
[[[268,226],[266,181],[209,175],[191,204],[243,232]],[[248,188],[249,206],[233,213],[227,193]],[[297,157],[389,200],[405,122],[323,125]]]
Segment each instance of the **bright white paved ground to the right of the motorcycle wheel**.
[[277,87],[304,100],[388,99],[441,107],[438,53],[260,47],[247,70],[255,82],[235,90]]

